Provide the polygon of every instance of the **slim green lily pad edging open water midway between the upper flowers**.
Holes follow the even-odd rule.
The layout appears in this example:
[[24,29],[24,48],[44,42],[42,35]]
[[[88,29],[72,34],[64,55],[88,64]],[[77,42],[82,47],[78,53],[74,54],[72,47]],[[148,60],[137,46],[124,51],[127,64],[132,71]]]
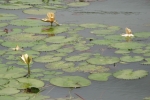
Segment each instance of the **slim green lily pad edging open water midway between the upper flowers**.
[[105,28],[106,25],[103,24],[95,24],[95,23],[86,23],[86,24],[80,24],[81,27],[84,28]]

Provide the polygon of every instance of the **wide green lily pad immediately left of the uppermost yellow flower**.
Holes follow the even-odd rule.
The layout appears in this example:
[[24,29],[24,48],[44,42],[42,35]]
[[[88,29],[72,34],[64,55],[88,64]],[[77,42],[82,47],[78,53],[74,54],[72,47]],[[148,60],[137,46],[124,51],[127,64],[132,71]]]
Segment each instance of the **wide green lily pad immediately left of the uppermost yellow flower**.
[[[10,24],[16,25],[16,26],[42,26],[42,25],[45,25],[45,23],[42,22],[41,20],[33,20],[33,19],[16,19],[16,20],[12,20],[10,22]],[[34,30],[34,29],[32,29],[32,30]],[[38,30],[38,27],[36,27],[35,30]]]

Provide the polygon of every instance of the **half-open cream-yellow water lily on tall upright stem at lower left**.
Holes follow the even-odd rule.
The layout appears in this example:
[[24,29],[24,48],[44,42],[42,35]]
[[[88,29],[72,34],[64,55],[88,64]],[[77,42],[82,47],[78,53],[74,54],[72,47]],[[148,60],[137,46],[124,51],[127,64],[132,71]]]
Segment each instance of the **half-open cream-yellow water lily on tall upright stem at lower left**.
[[30,63],[31,63],[31,61],[32,61],[32,58],[29,57],[28,54],[24,54],[24,55],[21,56],[21,60],[22,60],[25,64],[28,65],[28,74],[27,74],[27,75],[30,76]]

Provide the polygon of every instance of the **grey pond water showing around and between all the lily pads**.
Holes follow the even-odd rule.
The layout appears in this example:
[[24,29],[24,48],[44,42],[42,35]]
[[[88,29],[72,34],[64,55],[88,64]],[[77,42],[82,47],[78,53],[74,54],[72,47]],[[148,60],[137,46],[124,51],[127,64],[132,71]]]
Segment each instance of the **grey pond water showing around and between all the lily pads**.
[[[68,3],[69,1],[65,1],[65,2]],[[77,25],[77,27],[78,25],[85,24],[85,23],[105,24],[108,25],[108,27],[119,26],[120,29],[115,34],[120,36],[122,33],[125,32],[124,29],[126,27],[130,28],[133,31],[133,34],[136,32],[150,32],[150,17],[149,17],[150,1],[149,0],[142,0],[142,1],[141,0],[119,0],[119,1],[98,0],[98,1],[91,1],[89,3],[90,5],[88,6],[69,7],[67,9],[56,10],[55,14],[56,14],[57,21],[62,25],[71,26],[72,24],[75,24],[75,26]],[[25,14],[22,12],[23,10],[0,9],[0,14],[1,13],[15,14],[18,16],[18,19],[27,19],[31,17],[41,19],[46,17],[46,14],[45,15]],[[1,21],[1,22],[9,23],[9,21]],[[45,23],[45,24],[49,25],[49,23]],[[7,27],[1,27],[0,29],[4,30],[5,28],[24,29],[28,27],[9,25]],[[99,28],[96,28],[96,30],[98,29]],[[81,42],[87,41],[88,38],[93,40],[106,39],[105,36],[99,37],[98,35],[91,34],[90,32],[94,30],[95,30],[94,28],[81,29],[81,31],[77,31],[77,36],[83,37],[83,40]],[[56,34],[56,36],[57,35],[69,36],[68,33],[65,32],[62,32],[61,34]],[[137,39],[136,37],[133,38],[133,42],[146,44],[146,46],[144,46],[143,49],[150,46],[148,44],[149,38],[139,39],[140,42],[136,39]],[[123,42],[126,41],[123,40]],[[88,43],[90,44],[91,41],[87,41],[87,44]],[[66,46],[72,47],[72,44],[69,45],[67,44]],[[22,46],[20,45],[20,47]],[[1,45],[2,50],[7,50],[8,48],[9,46],[4,47]],[[24,47],[24,49],[30,50],[31,46],[29,48]],[[124,54],[116,54],[115,51],[117,50],[118,49],[113,48],[110,45],[95,44],[90,49],[83,50],[83,51],[75,50],[74,52],[71,52],[68,55],[63,56],[62,61],[65,61],[65,58],[67,57],[70,57],[72,55],[78,55],[81,53],[91,53],[91,54],[100,53],[102,56],[110,56],[110,57],[118,57],[118,58],[124,56]],[[56,50],[52,52],[57,53]],[[40,53],[41,53],[40,56],[51,54],[51,52],[49,51],[48,52],[40,51]],[[117,62],[115,66],[114,64],[106,64],[104,66],[110,69],[108,71],[110,73],[114,73],[118,70],[123,70],[123,69],[146,70],[150,72],[150,66],[148,64],[144,64],[144,65],[141,64],[144,62],[144,59],[149,58],[149,56],[143,56],[143,54],[136,54],[133,53],[132,51],[129,53],[129,55],[132,56],[138,55],[144,58],[143,60],[138,62],[129,62],[127,64],[124,64],[123,62],[125,61],[120,61]],[[2,59],[5,59],[5,57],[2,57]],[[10,59],[8,61],[10,61]],[[79,62],[75,61],[74,63],[78,64]],[[33,61],[31,69],[42,68],[44,70],[47,70],[47,68],[45,68],[46,64],[47,63],[40,63],[40,62]],[[19,67],[21,67],[21,65],[19,65]],[[62,70],[56,70],[56,71],[62,71]],[[84,78],[88,79],[90,73],[77,71],[77,72],[65,72],[63,75],[83,76]],[[73,89],[71,91],[72,96],[79,97],[78,95],[80,95],[82,98],[84,98],[81,100],[143,100],[143,98],[150,96],[149,75],[144,78],[136,79],[136,80],[123,80],[123,79],[117,79],[113,76],[110,76],[108,81],[106,82],[93,81],[93,80],[90,81],[91,81],[90,86]],[[45,81],[45,84],[50,86],[45,88],[45,90],[41,92],[42,95],[50,96],[51,98],[64,98],[69,95],[70,88],[57,87],[51,85],[48,81]]]

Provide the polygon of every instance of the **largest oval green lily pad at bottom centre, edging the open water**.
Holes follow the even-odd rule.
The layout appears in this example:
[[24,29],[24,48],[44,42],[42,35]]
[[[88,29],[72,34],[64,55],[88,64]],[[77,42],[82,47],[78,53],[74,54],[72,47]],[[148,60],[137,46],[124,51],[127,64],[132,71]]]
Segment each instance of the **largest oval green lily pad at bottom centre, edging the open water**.
[[89,86],[91,82],[80,76],[61,76],[50,80],[50,83],[60,87],[83,87]]

